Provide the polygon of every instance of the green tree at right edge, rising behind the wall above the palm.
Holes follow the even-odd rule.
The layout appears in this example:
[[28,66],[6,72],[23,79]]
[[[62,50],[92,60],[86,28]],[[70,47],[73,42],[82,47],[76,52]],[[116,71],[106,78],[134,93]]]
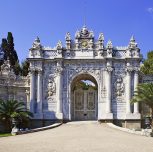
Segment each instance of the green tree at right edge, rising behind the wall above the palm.
[[141,72],[143,74],[153,74],[153,51],[148,52],[147,59],[141,66]]

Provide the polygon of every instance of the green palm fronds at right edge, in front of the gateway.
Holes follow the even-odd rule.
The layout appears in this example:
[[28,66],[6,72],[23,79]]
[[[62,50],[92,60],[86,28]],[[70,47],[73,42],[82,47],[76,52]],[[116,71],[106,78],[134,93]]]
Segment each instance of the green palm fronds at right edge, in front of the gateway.
[[134,92],[134,96],[131,99],[132,103],[139,102],[139,103],[145,103],[148,105],[153,116],[153,84],[152,83],[143,83],[139,84],[137,86],[136,91]]

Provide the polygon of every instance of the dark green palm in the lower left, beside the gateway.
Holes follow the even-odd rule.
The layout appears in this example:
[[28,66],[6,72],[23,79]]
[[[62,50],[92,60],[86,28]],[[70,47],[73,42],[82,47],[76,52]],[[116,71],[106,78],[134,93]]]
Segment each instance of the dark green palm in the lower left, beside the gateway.
[[0,100],[0,120],[4,123],[6,131],[11,131],[12,118],[23,122],[32,117],[33,114],[26,109],[24,102],[17,100]]

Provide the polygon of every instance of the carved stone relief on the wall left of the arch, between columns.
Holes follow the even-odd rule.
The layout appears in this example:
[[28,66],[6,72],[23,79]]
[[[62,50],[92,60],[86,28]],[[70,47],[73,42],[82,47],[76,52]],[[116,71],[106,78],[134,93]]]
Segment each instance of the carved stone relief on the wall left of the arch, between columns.
[[47,89],[48,98],[56,92],[56,85],[53,76],[49,76]]

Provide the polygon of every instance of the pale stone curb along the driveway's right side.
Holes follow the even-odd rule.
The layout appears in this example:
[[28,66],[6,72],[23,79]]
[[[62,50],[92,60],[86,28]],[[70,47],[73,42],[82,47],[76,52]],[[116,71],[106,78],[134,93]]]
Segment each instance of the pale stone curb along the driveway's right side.
[[114,125],[113,123],[107,123],[107,125],[111,128],[118,129],[127,133],[141,135],[141,136],[147,136],[147,137],[153,137],[152,129],[142,129],[141,131],[131,130],[128,128],[122,128],[119,126]]

